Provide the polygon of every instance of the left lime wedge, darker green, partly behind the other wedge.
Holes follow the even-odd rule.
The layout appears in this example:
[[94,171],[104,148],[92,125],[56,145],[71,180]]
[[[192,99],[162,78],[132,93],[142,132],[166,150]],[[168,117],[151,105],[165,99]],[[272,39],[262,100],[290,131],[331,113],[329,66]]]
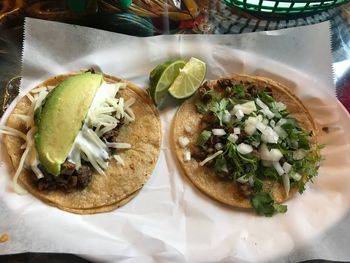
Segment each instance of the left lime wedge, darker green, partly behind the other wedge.
[[168,93],[171,83],[185,66],[183,60],[169,60],[155,67],[149,76],[149,91],[154,103],[159,106]]

